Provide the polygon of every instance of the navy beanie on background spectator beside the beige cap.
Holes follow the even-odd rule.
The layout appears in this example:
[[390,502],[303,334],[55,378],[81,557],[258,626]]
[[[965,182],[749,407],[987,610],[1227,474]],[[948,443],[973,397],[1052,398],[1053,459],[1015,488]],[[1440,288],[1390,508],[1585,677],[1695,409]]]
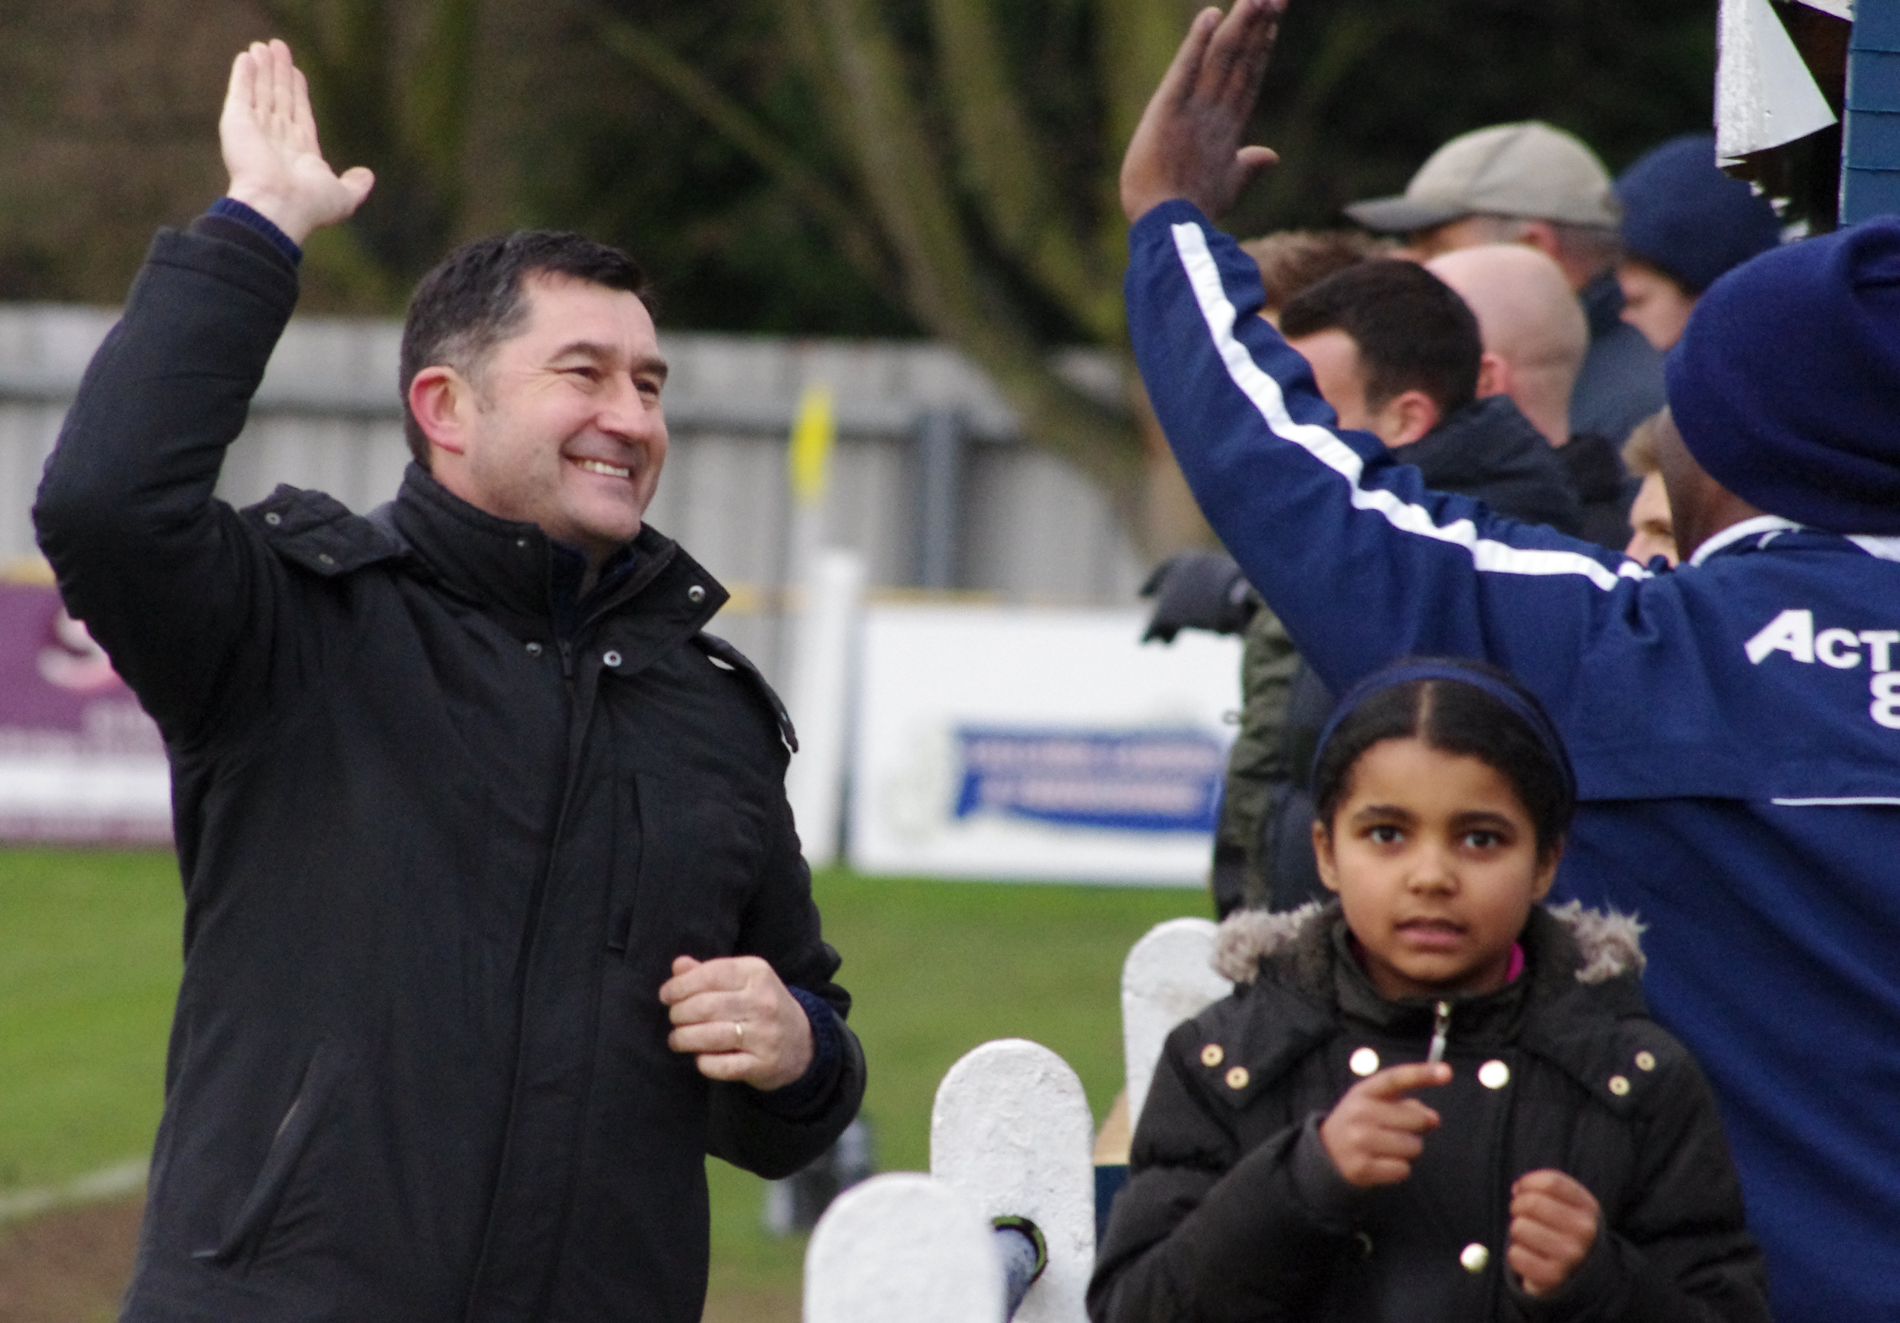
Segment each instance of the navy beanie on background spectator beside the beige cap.
[[1687,133],[1647,152],[1617,181],[1623,247],[1691,295],[1780,241],[1767,198],[1716,169],[1716,135]]

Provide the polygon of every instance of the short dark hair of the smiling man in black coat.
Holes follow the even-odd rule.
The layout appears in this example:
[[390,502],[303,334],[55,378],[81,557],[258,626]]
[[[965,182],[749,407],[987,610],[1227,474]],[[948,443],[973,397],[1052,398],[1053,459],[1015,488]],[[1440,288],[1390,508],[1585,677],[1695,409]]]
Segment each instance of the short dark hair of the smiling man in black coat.
[[403,433],[416,464],[429,468],[429,439],[408,409],[408,386],[426,367],[467,378],[528,317],[528,276],[562,276],[646,298],[646,272],[618,247],[570,230],[515,230],[464,243],[422,278],[403,321]]

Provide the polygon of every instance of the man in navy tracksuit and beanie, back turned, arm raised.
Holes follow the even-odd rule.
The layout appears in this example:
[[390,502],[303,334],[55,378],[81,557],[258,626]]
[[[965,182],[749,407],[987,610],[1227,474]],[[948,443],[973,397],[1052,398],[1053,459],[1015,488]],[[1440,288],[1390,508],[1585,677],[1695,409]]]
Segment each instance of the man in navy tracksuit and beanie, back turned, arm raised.
[[[1208,217],[1273,160],[1241,135],[1282,8],[1203,13],[1123,163],[1129,327],[1182,471],[1332,688],[1454,654],[1539,694],[1581,796],[1558,888],[1649,926],[1649,998],[1721,1099],[1775,1315],[1900,1317],[1900,222],[1704,293],[1661,452],[1685,565],[1649,574],[1429,492],[1252,316]],[[1645,1106],[1642,1061],[1583,1083]]]

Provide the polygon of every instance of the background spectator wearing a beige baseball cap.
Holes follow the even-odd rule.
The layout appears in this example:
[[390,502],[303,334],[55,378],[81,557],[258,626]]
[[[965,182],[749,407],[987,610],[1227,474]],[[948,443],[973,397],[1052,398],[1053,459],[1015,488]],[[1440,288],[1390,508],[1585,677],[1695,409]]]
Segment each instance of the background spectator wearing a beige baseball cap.
[[1662,363],[1623,321],[1623,211],[1609,171],[1569,133],[1535,120],[1465,133],[1433,152],[1402,196],[1357,201],[1345,215],[1368,230],[1404,234],[1419,260],[1478,243],[1543,251],[1564,270],[1590,323],[1569,431],[1623,445],[1662,407]]

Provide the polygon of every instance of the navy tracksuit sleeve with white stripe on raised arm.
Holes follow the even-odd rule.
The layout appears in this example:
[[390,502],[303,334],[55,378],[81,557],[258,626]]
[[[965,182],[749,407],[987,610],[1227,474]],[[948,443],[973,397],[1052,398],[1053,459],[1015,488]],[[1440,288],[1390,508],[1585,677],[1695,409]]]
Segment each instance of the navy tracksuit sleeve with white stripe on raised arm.
[[1378,437],[1340,431],[1256,316],[1258,268],[1191,203],[1155,207],[1129,245],[1134,357],[1182,473],[1334,692],[1398,656],[1454,654],[1560,694],[1590,641],[1628,623],[1647,578],[1632,561],[1427,490]]

